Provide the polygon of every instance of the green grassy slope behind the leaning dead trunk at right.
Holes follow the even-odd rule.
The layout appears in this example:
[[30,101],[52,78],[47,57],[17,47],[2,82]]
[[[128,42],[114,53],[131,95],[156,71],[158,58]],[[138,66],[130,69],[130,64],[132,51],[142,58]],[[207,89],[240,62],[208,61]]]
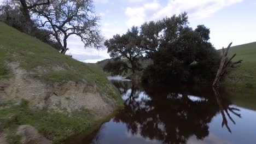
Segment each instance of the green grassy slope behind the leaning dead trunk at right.
[[236,53],[234,61],[243,59],[240,67],[229,70],[224,85],[237,88],[256,88],[256,42],[233,46],[229,56]]

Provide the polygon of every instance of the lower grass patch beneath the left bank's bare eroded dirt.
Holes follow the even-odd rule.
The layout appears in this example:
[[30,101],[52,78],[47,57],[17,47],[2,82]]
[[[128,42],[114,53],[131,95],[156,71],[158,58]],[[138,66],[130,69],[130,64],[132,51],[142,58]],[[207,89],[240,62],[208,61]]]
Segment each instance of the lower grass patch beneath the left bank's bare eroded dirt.
[[1,127],[8,129],[7,134],[10,143],[16,143],[19,140],[19,135],[16,135],[15,131],[22,124],[33,125],[40,134],[53,140],[54,143],[60,143],[69,136],[82,133],[95,124],[88,111],[66,115],[47,110],[31,109],[26,100],[22,100],[19,105],[1,109],[0,117]]

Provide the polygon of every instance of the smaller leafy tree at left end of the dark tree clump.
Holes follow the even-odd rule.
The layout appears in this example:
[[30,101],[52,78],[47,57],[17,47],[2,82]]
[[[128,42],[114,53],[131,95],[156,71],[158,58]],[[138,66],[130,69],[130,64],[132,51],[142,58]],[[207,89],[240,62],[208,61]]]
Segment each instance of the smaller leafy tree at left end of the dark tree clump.
[[138,57],[142,56],[144,49],[141,37],[139,36],[138,27],[133,26],[123,35],[114,35],[113,38],[106,40],[104,45],[108,48],[110,57],[120,58],[121,61],[126,61],[127,59],[130,66],[126,65],[126,67],[130,69],[132,73],[140,69]]

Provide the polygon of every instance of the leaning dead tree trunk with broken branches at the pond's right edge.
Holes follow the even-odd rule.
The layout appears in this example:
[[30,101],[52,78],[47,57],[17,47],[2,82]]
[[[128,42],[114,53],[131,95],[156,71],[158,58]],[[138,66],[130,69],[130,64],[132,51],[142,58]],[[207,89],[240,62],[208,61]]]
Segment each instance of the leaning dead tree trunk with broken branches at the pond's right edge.
[[226,49],[224,49],[224,47],[222,48],[223,57],[222,57],[222,60],[220,61],[219,69],[217,71],[215,80],[213,81],[213,84],[212,84],[213,87],[219,86],[219,81],[222,79],[223,75],[226,73],[226,71],[229,68],[236,68],[236,64],[241,63],[243,61],[243,60],[239,60],[236,62],[231,61],[236,56],[236,53],[231,58],[228,57],[228,52],[231,44],[232,43],[230,43]]

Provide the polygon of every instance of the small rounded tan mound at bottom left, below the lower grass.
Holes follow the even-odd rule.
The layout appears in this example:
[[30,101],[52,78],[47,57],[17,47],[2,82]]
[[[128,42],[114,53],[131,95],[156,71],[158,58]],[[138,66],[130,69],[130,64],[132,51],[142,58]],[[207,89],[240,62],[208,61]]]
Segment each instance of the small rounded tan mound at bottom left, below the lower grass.
[[23,144],[51,144],[52,141],[40,135],[31,125],[20,125],[17,134],[21,135]]

